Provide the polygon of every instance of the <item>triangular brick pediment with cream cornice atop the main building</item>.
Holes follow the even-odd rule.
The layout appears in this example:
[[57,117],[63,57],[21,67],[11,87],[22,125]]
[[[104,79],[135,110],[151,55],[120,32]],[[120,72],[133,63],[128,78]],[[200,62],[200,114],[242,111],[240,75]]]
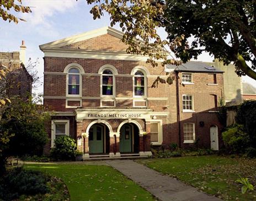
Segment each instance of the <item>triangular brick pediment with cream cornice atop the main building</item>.
[[80,50],[100,50],[100,51],[125,51],[127,46],[121,42],[122,33],[109,26],[83,34],[66,37],[65,39],[49,42],[40,45],[40,49],[80,49]]

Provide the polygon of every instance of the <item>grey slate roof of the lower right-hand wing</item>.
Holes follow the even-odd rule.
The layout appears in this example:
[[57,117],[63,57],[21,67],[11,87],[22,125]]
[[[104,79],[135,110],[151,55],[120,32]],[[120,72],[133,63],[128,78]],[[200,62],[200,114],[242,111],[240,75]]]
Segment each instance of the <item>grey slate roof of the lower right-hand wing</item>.
[[183,63],[181,66],[174,66],[167,64],[165,67],[166,72],[171,72],[173,70],[179,72],[203,72],[203,73],[223,73],[224,71],[217,69],[214,66],[210,66],[206,62],[199,61],[189,61]]

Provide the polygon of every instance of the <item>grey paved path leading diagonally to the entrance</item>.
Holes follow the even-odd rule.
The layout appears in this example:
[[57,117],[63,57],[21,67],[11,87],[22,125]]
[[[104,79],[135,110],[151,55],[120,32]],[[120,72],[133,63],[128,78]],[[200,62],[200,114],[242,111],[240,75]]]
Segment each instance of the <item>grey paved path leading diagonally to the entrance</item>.
[[106,163],[162,201],[221,201],[132,160],[108,160]]

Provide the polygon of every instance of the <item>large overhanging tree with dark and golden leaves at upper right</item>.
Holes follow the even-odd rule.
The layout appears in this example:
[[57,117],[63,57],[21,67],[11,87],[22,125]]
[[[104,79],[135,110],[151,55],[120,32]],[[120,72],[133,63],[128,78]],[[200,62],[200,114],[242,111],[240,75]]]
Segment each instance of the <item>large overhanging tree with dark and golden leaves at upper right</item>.
[[[166,46],[187,62],[202,51],[209,52],[225,64],[234,62],[238,76],[256,79],[256,3],[242,0],[87,0],[94,3],[94,19],[110,14],[111,26],[120,24],[128,53],[163,59],[162,65],[180,64],[169,59]],[[157,28],[168,37],[161,40]],[[188,39],[192,39],[191,44]],[[144,43],[142,41],[145,41]],[[204,49],[202,49],[202,47]],[[163,51],[164,50],[164,51]],[[172,83],[172,82],[170,82]]]

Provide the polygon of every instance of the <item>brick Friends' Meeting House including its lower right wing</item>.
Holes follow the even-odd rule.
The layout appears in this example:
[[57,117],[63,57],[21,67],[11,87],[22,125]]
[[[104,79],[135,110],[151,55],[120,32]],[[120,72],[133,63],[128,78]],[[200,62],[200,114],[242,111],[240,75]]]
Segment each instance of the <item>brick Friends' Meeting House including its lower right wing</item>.
[[217,150],[223,72],[201,62],[168,66],[180,79],[151,88],[166,72],[146,56],[127,54],[121,38],[108,27],[40,46],[44,104],[55,111],[46,150],[62,135],[77,140],[84,158],[151,155],[151,145],[171,143]]

